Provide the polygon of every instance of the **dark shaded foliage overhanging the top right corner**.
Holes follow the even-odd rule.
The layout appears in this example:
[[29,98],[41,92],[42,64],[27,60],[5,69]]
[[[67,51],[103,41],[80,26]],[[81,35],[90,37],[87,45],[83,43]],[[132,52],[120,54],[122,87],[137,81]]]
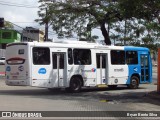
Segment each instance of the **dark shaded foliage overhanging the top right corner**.
[[118,4],[125,18],[145,20],[160,18],[159,0],[118,0]]

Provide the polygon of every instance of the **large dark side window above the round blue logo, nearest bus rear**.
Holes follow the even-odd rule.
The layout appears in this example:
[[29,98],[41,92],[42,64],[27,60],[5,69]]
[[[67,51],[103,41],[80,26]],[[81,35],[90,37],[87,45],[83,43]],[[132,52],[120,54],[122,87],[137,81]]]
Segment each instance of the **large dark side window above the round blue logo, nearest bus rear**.
[[33,48],[33,64],[34,65],[49,65],[50,64],[50,50],[46,47]]

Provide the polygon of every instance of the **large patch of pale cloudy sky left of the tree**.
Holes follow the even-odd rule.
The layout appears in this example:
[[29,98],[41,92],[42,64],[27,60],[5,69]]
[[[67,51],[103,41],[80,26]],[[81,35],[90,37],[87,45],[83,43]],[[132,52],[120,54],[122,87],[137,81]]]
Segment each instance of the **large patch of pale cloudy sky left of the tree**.
[[[2,5],[6,4],[6,5]],[[9,6],[13,5],[13,6]],[[24,6],[24,7],[18,7]],[[26,8],[27,6],[37,6],[37,8]],[[0,17],[6,21],[13,22],[19,26],[31,26],[38,18],[38,0],[0,0]],[[38,25],[38,24],[36,24]]]

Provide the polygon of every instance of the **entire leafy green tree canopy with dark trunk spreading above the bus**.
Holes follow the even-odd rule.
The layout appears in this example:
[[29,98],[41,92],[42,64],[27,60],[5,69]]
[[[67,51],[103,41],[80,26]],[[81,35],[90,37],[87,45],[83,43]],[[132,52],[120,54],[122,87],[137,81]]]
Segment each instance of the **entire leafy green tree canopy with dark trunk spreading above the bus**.
[[160,41],[160,0],[39,0],[40,24],[49,22],[59,38],[96,40],[99,27],[105,43],[146,45]]

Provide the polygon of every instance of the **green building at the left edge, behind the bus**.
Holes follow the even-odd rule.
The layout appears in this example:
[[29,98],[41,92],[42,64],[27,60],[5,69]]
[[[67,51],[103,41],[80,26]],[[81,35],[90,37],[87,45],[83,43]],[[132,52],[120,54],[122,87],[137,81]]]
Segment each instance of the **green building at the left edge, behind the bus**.
[[0,49],[5,49],[8,43],[20,42],[21,34],[13,29],[0,29]]

